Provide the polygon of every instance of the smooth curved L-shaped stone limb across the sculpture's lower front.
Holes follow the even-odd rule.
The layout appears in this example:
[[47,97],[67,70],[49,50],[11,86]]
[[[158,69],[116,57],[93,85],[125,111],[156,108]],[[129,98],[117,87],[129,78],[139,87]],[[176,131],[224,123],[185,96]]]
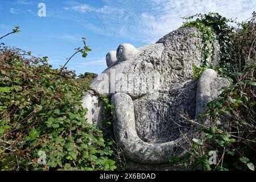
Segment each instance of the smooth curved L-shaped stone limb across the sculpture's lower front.
[[127,158],[139,163],[167,163],[172,156],[183,155],[187,143],[183,137],[166,143],[147,143],[138,137],[135,130],[134,105],[126,93],[112,96],[114,105],[114,136]]

